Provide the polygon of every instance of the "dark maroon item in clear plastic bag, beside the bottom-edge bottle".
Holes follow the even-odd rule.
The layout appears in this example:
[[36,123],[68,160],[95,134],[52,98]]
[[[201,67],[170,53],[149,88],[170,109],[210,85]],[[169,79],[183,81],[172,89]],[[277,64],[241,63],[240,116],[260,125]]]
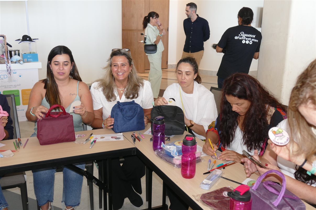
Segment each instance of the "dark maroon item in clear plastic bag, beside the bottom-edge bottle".
[[203,193],[194,196],[195,200],[203,203],[204,206],[210,207],[215,210],[229,209],[228,192],[233,191],[232,187],[222,187],[211,192]]

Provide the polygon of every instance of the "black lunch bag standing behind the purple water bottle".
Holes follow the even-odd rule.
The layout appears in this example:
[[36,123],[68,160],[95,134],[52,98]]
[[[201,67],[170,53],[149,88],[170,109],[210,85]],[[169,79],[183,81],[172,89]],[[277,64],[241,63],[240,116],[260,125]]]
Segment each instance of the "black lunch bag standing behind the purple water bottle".
[[[151,118],[154,119],[156,116],[164,116],[166,135],[182,135],[184,133],[184,114],[179,106],[154,106],[151,110]],[[151,124],[151,133],[153,133],[153,124]]]

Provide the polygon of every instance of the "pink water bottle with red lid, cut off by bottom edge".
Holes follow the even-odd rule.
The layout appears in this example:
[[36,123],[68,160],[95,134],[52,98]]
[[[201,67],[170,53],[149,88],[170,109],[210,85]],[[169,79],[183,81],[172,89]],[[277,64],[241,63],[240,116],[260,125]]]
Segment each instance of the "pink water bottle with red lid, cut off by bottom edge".
[[251,194],[245,184],[239,185],[235,190],[228,192],[230,210],[251,210]]

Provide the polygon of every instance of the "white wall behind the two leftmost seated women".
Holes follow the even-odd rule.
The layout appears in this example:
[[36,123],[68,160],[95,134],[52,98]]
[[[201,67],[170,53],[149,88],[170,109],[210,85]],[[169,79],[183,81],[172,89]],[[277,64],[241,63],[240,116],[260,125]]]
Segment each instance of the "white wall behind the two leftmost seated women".
[[[37,52],[46,78],[47,56],[57,45],[73,53],[82,80],[86,83],[103,74],[101,67],[112,48],[122,46],[121,1],[27,1],[30,35],[39,38]],[[0,33],[6,35],[9,49],[21,49],[14,41],[27,34],[25,3],[0,2]]]

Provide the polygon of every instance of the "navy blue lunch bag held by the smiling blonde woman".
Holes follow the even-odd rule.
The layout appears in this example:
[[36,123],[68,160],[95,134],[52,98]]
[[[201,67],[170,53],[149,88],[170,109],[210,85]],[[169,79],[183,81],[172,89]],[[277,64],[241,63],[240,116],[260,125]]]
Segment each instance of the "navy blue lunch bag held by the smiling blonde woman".
[[144,110],[134,100],[129,102],[118,101],[111,110],[111,117],[114,118],[112,130],[115,133],[145,129]]

